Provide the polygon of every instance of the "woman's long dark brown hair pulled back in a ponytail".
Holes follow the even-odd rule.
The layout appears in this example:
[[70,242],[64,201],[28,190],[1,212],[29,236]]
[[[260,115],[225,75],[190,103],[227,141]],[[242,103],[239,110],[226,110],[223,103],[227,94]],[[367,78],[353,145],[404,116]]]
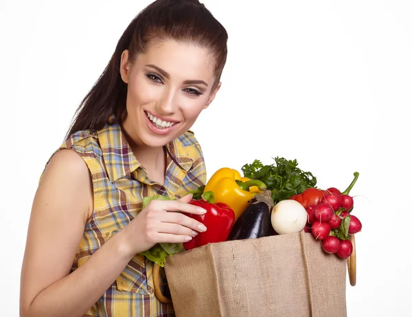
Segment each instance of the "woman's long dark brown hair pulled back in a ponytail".
[[157,0],[137,14],[124,31],[102,75],[76,110],[66,137],[80,130],[100,130],[112,115],[112,122],[121,121],[127,92],[120,76],[122,52],[128,49],[128,58],[133,62],[150,43],[163,38],[209,49],[215,58],[212,90],[216,88],[227,57],[225,27],[198,0]]

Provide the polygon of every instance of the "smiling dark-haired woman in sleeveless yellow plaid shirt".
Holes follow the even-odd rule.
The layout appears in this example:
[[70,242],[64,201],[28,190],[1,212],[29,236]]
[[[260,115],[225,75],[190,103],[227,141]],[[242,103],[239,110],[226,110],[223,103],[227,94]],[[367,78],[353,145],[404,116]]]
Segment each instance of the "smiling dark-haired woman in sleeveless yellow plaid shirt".
[[[153,292],[161,242],[207,230],[185,194],[206,180],[189,129],[220,88],[227,32],[196,0],[158,0],[120,38],[34,198],[21,316],[172,316]],[[155,194],[179,200],[142,198]],[[178,212],[176,212],[178,211]]]

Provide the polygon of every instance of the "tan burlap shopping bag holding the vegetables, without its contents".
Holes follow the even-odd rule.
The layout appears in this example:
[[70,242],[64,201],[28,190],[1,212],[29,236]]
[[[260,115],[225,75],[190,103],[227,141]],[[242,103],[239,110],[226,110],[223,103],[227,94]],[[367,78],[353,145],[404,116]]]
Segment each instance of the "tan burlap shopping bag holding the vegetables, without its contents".
[[346,261],[311,233],[208,244],[165,263],[176,316],[346,316]]

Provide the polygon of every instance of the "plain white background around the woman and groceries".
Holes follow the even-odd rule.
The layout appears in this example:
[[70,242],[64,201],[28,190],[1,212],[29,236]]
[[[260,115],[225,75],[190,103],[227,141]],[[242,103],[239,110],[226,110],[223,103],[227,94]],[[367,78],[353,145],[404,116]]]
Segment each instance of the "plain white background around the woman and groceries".
[[[150,1],[1,1],[1,316],[18,316],[38,177],[128,23]],[[208,176],[296,158],[352,194],[348,316],[412,316],[410,1],[204,0],[227,28],[222,89],[193,130]],[[333,316],[333,312],[330,312]]]

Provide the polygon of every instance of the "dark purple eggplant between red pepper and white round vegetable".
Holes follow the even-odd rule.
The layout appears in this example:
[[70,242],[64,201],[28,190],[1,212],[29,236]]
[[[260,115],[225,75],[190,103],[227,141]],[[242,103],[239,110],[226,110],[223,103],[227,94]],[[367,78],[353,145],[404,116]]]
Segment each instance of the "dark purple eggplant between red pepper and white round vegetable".
[[247,209],[233,224],[228,241],[257,239],[275,235],[276,233],[271,222],[272,209],[271,191],[266,190],[254,196]]

